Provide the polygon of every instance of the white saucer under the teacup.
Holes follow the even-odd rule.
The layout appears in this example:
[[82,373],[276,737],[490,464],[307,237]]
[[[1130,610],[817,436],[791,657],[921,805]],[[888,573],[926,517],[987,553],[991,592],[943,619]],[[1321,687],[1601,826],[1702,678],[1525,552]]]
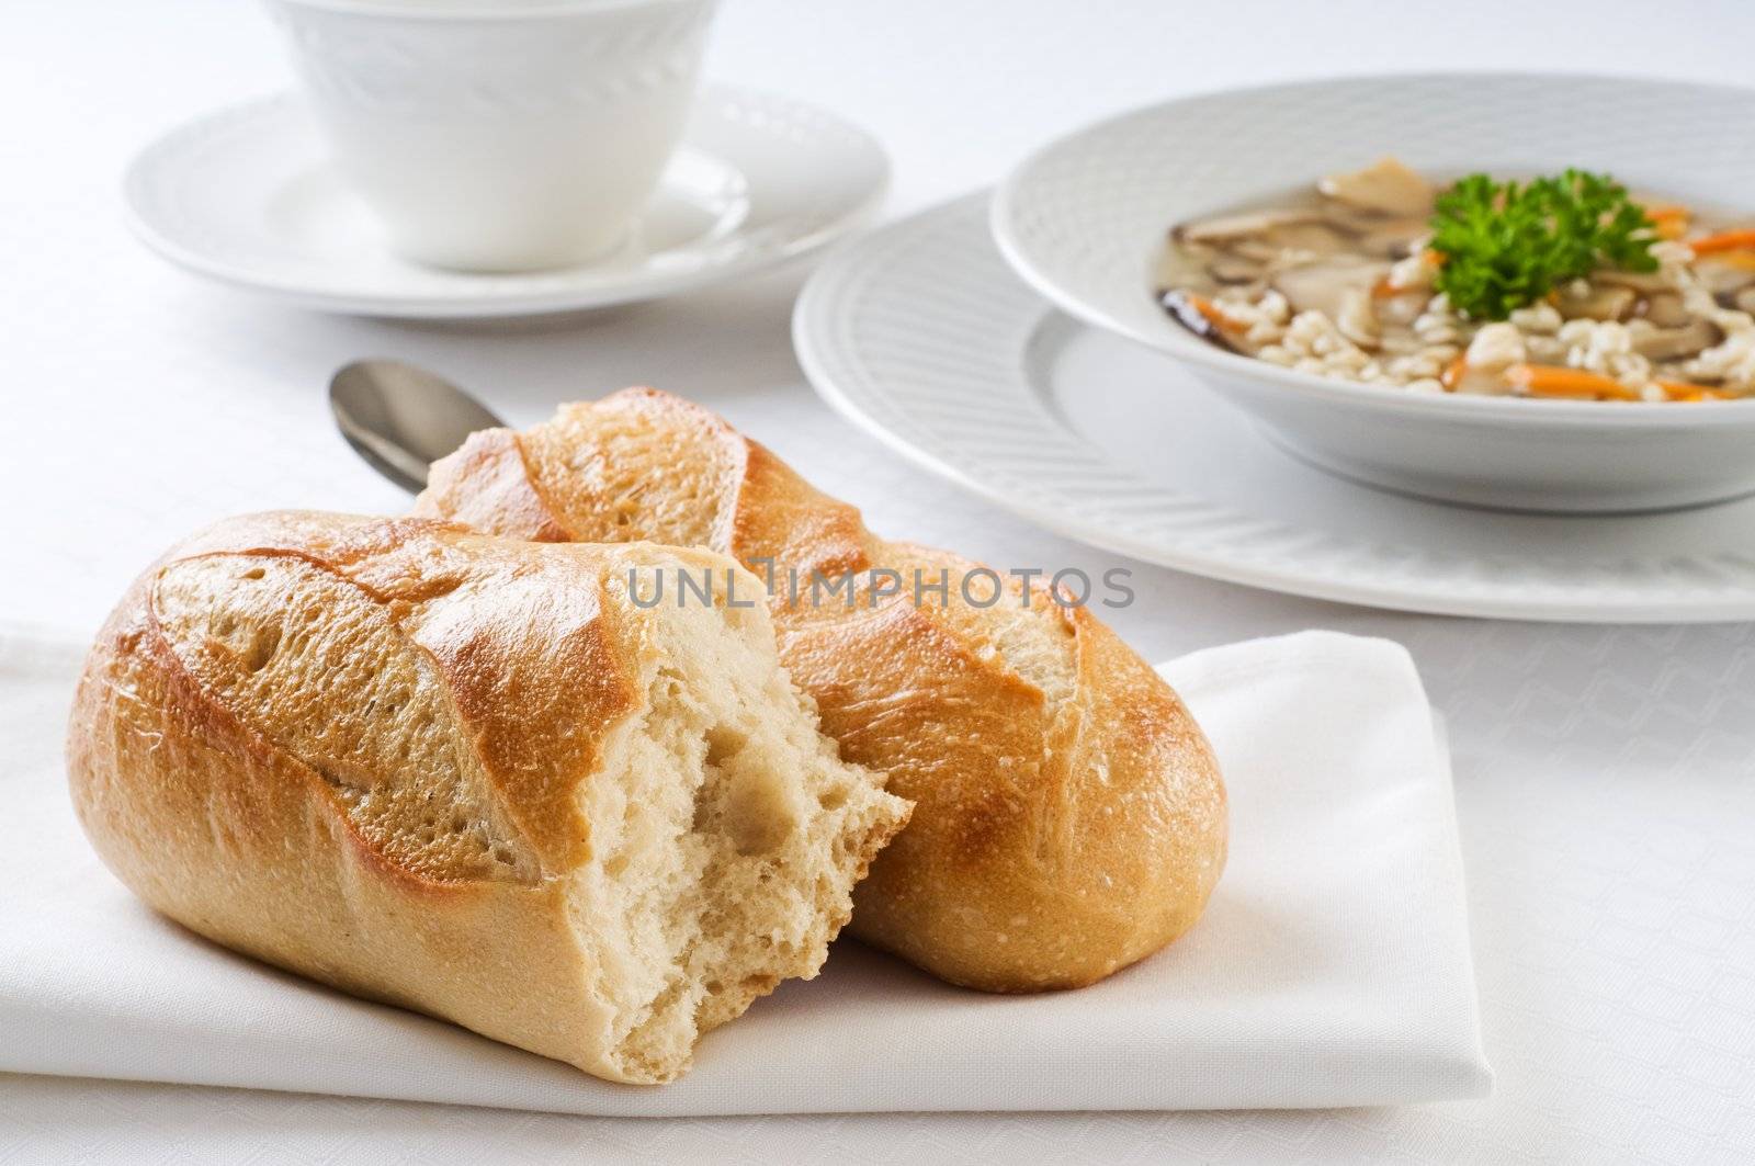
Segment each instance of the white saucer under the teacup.
[[291,95],[172,130],[130,163],[123,191],[154,251],[240,288],[372,316],[523,316],[655,299],[802,255],[856,223],[888,169],[870,135],[820,109],[707,88],[621,251],[507,276],[390,255]]

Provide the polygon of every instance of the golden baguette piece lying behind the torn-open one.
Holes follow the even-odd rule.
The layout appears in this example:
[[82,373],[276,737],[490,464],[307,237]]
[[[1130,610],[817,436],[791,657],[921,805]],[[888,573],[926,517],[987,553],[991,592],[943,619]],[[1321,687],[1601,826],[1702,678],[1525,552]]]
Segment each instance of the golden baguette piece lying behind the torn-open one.
[[[655,390],[474,434],[430,481],[419,515],[542,541],[711,546],[772,581],[781,660],[823,731],[916,803],[855,896],[862,939],[953,983],[1065,989],[1157,952],[1206,906],[1227,845],[1213,752],[1088,608],[1016,578],[983,606],[979,564],[876,537],[760,444]],[[813,602],[800,583],[793,599],[793,578],[872,569],[907,583],[885,597],[888,581],[867,581],[848,602]],[[948,583],[942,601],[923,590],[916,606],[916,571]]]

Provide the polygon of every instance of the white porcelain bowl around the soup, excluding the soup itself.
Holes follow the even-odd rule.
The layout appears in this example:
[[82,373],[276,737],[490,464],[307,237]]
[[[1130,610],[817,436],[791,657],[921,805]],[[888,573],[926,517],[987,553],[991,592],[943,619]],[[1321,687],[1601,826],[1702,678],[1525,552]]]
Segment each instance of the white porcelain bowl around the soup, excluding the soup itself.
[[[1644,511],[1755,492],[1755,400],[1420,395],[1220,351],[1153,295],[1165,230],[1395,155],[1432,174],[1608,170],[1755,212],[1755,91],[1532,74],[1351,77],[1141,109],[1025,160],[993,198],[1007,262],[1072,316],[1183,362],[1295,457],[1448,502]],[[1093,386],[1100,392],[1100,386]]]

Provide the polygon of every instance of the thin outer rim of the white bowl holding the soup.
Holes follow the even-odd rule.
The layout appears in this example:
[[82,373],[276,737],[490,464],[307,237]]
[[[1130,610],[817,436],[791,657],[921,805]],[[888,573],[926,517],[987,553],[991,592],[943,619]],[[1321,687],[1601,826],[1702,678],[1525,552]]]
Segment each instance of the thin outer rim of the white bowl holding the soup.
[[[1483,83],[1580,83],[1599,81],[1629,88],[1692,90],[1699,95],[1722,95],[1739,102],[1755,100],[1755,88],[1734,84],[1706,84],[1695,81],[1678,81],[1665,77],[1627,77],[1601,72],[1539,72],[1539,70],[1418,70],[1418,72],[1379,72],[1357,74],[1346,77],[1309,77],[1299,81],[1279,81],[1272,84],[1225,86],[1186,93],[1167,102],[1153,102],[1134,109],[1100,118],[1076,130],[1062,133],[1049,142],[1030,151],[1018,162],[993,191],[988,211],[988,227],[1000,255],[1018,276],[1039,295],[1060,311],[1083,320],[1093,327],[1123,335],[1153,351],[1176,356],[1193,365],[1200,365],[1221,376],[1239,376],[1274,388],[1293,390],[1306,399],[1329,400],[1341,406],[1376,409],[1381,413],[1420,414],[1427,418],[1455,420],[1511,420],[1536,421],[1555,428],[1708,428],[1708,427],[1755,427],[1755,400],[1697,400],[1697,402],[1601,402],[1601,400],[1546,400],[1529,397],[1481,397],[1458,393],[1409,393],[1399,388],[1364,385],[1360,381],[1343,381],[1337,378],[1299,372],[1279,365],[1227,353],[1206,344],[1192,335],[1181,335],[1171,328],[1162,332],[1143,332],[1128,321],[1111,314],[1102,304],[1078,295],[1058,279],[1051,263],[1025,242],[1016,232],[1016,204],[1020,190],[1034,177],[1035,170],[1055,162],[1064,151],[1081,148],[1090,137],[1111,132],[1130,121],[1144,121],[1162,116],[1193,102],[1209,102],[1228,97],[1257,95],[1295,95],[1313,90],[1330,90],[1358,84],[1415,84],[1425,81],[1483,81]],[[1128,276],[1132,283],[1132,276]]]

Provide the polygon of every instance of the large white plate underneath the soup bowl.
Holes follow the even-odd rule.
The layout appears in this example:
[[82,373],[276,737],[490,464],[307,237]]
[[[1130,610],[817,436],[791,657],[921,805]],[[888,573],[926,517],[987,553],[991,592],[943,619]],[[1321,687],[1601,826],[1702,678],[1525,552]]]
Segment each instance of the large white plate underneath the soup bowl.
[[1755,618],[1755,500],[1532,516],[1314,471],[1179,362],[1044,304],[995,249],[986,195],[837,251],[799,299],[793,341],[818,392],[907,458],[1135,558],[1409,611]]

